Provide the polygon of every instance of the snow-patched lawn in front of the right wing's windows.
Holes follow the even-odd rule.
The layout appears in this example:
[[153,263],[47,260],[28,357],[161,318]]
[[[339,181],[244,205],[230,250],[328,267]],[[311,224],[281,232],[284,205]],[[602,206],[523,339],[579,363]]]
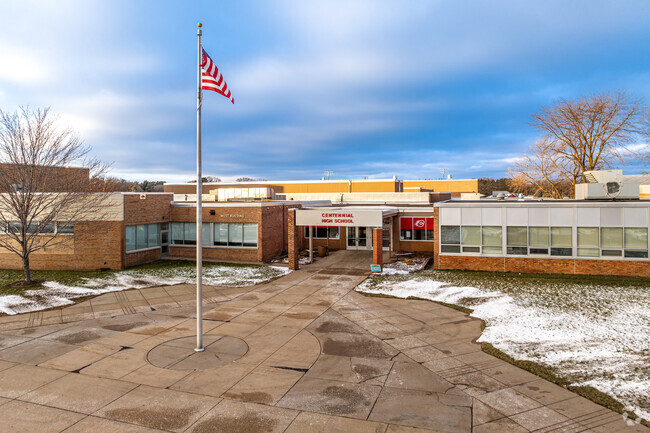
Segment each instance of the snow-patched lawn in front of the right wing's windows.
[[370,278],[357,290],[471,308],[486,322],[479,342],[593,386],[650,419],[649,287],[488,275],[423,271]]

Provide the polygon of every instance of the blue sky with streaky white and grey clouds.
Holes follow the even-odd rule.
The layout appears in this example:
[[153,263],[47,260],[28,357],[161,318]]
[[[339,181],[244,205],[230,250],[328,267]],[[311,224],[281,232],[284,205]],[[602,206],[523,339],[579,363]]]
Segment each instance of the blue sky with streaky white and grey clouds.
[[[111,174],[233,180],[506,174],[540,105],[650,101],[650,2],[0,0],[0,108],[51,106]],[[629,166],[634,174],[647,167]]]

